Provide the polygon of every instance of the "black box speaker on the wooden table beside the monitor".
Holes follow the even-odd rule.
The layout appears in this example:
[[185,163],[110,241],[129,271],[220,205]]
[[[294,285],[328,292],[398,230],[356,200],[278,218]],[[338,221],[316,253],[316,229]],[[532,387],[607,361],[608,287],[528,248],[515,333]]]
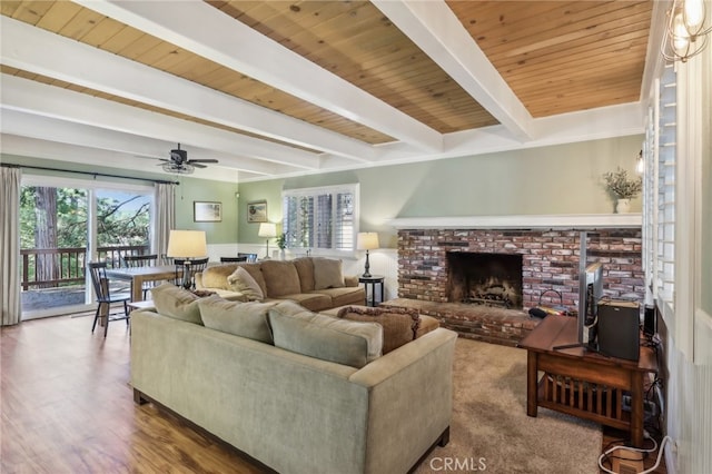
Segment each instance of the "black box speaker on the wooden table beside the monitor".
[[599,303],[599,352],[611,357],[640,357],[640,306],[635,302]]

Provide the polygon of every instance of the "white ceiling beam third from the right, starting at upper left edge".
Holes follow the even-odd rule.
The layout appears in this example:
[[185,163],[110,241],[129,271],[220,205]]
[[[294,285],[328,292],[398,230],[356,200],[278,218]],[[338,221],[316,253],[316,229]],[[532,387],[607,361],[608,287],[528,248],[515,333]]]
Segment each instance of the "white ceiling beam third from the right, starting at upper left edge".
[[373,147],[246,100],[0,17],[2,63],[357,161]]

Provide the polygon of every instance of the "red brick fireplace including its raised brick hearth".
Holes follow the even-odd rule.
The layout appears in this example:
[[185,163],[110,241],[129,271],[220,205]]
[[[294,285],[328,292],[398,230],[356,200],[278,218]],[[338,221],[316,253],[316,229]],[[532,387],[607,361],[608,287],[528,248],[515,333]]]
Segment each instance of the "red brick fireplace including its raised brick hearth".
[[[536,306],[540,298],[543,304],[558,305],[561,294],[561,303],[571,312],[576,310],[582,230],[587,231],[589,263],[603,264],[604,295],[642,300],[644,274],[640,226],[577,227],[565,230],[400,228],[399,305],[427,308],[423,310],[436,315],[446,327],[458,330],[465,337],[490,340],[492,337],[502,336],[491,333],[505,333],[504,339],[515,344],[534,327],[535,324],[531,324],[526,312]],[[452,257],[458,253],[498,254],[521,258],[522,293],[521,302],[516,305],[518,310],[454,300],[454,284],[448,276],[453,271]],[[551,292],[552,289],[555,292]],[[501,319],[506,323],[500,324]]]

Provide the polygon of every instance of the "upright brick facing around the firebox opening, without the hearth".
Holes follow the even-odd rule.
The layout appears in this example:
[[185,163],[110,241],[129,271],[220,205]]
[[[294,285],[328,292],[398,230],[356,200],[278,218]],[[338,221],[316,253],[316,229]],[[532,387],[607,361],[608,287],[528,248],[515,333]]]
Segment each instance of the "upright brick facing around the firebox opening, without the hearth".
[[[398,296],[448,303],[448,253],[510,254],[522,257],[522,307],[525,310],[536,306],[547,289],[561,293],[563,305],[575,310],[581,230],[589,233],[589,261],[601,261],[604,266],[604,294],[642,300],[640,229],[400,229]],[[544,302],[558,304],[557,295],[547,294]]]

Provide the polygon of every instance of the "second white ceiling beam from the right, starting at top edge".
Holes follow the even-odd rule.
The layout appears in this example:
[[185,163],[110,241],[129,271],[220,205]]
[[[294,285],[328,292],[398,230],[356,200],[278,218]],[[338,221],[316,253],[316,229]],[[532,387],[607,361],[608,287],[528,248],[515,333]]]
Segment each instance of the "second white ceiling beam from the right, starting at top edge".
[[206,2],[77,3],[398,140],[442,147],[436,130]]

